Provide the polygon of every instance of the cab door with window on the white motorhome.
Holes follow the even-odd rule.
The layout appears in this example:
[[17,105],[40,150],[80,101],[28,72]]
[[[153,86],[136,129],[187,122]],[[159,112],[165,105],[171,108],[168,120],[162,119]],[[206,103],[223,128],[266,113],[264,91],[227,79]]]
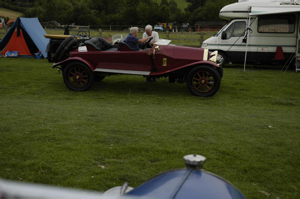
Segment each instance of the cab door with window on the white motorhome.
[[[242,61],[244,59],[246,19],[232,20],[219,36],[219,50],[226,52],[228,60]],[[240,59],[240,60],[239,60]]]

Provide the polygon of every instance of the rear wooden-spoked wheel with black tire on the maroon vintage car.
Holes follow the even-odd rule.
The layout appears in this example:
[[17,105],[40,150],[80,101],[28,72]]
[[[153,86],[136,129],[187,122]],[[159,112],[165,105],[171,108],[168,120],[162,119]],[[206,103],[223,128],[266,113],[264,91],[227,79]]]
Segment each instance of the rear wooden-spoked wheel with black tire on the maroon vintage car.
[[70,62],[63,68],[63,81],[66,87],[75,91],[87,90],[93,81],[91,69],[82,62]]

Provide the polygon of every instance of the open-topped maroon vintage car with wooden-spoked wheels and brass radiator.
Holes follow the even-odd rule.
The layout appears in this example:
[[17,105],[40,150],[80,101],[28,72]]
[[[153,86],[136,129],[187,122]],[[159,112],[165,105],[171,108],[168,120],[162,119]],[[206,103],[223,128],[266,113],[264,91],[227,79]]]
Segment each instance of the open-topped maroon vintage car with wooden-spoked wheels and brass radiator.
[[76,39],[68,37],[56,50],[52,67],[61,69],[65,85],[76,91],[87,90],[94,79],[135,74],[186,82],[188,89],[197,96],[215,94],[223,74],[222,67],[216,63],[217,51],[169,42],[159,39],[154,46],[135,51],[124,40],[112,45],[104,38],[94,37],[78,46]]

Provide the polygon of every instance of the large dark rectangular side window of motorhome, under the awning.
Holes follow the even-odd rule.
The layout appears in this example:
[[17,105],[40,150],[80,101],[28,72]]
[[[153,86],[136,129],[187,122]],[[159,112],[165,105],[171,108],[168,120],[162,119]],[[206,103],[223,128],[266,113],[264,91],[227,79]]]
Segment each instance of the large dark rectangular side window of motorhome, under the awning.
[[293,33],[294,14],[270,14],[258,16],[257,31],[261,33]]

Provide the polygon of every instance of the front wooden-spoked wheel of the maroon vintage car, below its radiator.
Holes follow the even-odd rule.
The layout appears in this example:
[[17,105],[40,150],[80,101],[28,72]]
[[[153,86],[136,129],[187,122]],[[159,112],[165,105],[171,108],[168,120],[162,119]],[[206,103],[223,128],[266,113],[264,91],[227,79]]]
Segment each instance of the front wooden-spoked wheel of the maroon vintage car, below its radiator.
[[196,66],[188,72],[186,84],[194,95],[212,96],[218,91],[221,78],[218,72],[210,66]]

